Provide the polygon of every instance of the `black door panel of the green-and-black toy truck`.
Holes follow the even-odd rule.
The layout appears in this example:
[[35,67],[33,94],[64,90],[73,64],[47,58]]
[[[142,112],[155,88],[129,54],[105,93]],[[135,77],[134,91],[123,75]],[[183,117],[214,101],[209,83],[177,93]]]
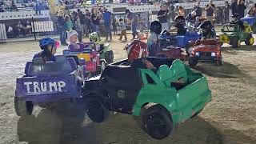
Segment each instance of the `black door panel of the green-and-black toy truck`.
[[102,87],[109,97],[109,109],[131,114],[142,88],[139,71],[132,67],[106,66]]

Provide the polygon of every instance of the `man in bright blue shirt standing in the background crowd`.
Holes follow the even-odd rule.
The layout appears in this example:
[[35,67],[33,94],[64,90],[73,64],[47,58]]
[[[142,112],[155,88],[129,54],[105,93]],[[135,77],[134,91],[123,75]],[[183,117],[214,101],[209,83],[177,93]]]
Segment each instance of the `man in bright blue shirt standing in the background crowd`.
[[112,25],[112,14],[110,11],[104,7],[104,12],[103,12],[103,20],[104,20],[104,26],[105,26],[105,32],[106,32],[106,41],[109,40],[112,41],[112,32],[111,32],[111,25]]

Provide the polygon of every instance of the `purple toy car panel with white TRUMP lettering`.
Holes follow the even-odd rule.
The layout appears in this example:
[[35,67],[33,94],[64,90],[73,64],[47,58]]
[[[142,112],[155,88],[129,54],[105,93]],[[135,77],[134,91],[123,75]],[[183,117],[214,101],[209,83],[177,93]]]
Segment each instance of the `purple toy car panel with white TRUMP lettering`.
[[77,78],[72,74],[17,78],[16,97],[34,103],[78,98],[81,96],[82,87]]

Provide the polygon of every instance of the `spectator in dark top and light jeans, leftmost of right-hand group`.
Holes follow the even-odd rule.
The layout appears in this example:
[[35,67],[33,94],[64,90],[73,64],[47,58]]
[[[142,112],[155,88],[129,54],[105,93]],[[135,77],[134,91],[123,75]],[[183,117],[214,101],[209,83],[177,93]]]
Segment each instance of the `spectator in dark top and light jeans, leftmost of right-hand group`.
[[168,15],[167,6],[163,4],[158,11],[158,21],[162,24],[162,30],[169,30]]

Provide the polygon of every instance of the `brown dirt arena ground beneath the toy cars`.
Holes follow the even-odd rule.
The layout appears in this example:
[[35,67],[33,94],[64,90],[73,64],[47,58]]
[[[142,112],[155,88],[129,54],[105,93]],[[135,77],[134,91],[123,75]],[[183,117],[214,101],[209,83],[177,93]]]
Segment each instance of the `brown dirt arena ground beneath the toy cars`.
[[[88,39],[86,39],[88,41]],[[114,59],[126,58],[126,43],[114,38]],[[61,54],[64,46],[58,50]],[[154,140],[133,117],[115,114],[102,124],[90,122],[81,106],[60,102],[38,106],[30,117],[14,112],[15,80],[38,51],[38,42],[0,44],[0,143],[29,144],[236,144],[256,143],[256,47],[225,47],[224,65],[199,64],[209,79],[213,100],[198,117],[178,126],[170,137]]]

